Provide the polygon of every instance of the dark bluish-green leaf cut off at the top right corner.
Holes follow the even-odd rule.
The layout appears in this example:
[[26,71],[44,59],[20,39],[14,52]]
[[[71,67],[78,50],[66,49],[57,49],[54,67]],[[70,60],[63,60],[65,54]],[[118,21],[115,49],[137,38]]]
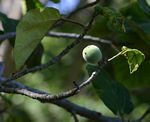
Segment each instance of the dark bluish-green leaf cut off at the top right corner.
[[150,16],[150,6],[146,2],[146,0],[138,0],[139,6],[141,9],[148,15]]

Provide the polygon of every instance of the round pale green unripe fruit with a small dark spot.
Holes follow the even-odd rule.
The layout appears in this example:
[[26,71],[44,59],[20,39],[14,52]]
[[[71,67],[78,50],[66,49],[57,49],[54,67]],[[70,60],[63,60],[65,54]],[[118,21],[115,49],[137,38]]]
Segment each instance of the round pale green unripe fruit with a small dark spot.
[[102,60],[102,53],[95,45],[89,45],[83,49],[82,56],[90,64],[96,64]]

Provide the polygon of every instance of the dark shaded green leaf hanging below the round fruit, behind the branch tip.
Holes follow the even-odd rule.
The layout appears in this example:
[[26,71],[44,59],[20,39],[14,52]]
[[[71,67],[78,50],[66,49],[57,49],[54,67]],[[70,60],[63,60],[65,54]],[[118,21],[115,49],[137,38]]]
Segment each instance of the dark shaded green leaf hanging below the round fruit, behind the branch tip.
[[[98,67],[88,64],[86,69],[91,75]],[[112,80],[106,71],[101,70],[92,83],[98,96],[114,114],[129,114],[133,110],[128,90]]]

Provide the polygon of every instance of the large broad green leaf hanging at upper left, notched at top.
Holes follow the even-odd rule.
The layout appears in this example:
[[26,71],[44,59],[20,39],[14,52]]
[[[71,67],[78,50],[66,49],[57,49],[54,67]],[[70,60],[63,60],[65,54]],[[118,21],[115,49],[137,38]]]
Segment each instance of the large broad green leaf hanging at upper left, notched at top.
[[29,11],[17,26],[14,58],[16,68],[19,69],[33,50],[47,34],[51,25],[60,18],[56,9],[46,8]]

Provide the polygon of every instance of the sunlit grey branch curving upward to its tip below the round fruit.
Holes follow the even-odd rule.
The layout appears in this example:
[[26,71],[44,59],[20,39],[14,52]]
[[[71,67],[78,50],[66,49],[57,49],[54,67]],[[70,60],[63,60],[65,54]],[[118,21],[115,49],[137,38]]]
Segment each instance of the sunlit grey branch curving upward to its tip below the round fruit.
[[98,73],[99,73],[99,71],[93,72],[92,75],[86,81],[82,82],[80,85],[75,86],[75,88],[73,88],[71,90],[68,90],[66,92],[62,92],[62,93],[59,93],[56,95],[48,94],[48,93],[38,94],[38,93],[32,92],[32,88],[30,88],[28,86],[24,86],[23,84],[20,84],[18,82],[14,82],[14,81],[11,81],[5,85],[2,85],[1,88],[6,87],[6,85],[7,85],[7,87],[5,88],[6,91],[7,91],[7,89],[9,89],[9,90],[11,89],[11,91],[14,91],[14,92],[19,91],[20,94],[26,95],[26,96],[32,96],[32,98],[35,98],[35,99],[40,98],[40,99],[43,99],[43,100],[46,99],[49,101],[58,100],[58,99],[64,99],[64,98],[68,98],[68,97],[76,95],[82,88],[84,88],[85,86],[90,84],[95,79],[95,77],[98,75]]

